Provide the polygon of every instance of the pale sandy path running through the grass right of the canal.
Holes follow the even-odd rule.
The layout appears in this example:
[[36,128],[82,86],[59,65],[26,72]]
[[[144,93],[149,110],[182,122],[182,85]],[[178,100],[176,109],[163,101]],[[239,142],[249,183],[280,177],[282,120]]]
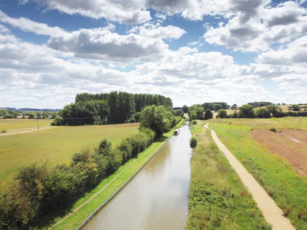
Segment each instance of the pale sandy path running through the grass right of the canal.
[[[208,128],[208,124],[205,125]],[[209,129],[209,128],[208,128]],[[210,129],[211,130],[211,129]],[[267,222],[272,224],[273,230],[292,230],[295,229],[290,221],[283,216],[283,213],[278,208],[274,200],[260,187],[255,178],[241,165],[234,155],[226,148],[226,146],[218,139],[215,132],[211,130],[211,135],[214,142],[224,152],[229,160],[230,165],[234,168],[238,176],[242,179],[244,185],[252,194],[257,202],[259,209],[266,218]]]

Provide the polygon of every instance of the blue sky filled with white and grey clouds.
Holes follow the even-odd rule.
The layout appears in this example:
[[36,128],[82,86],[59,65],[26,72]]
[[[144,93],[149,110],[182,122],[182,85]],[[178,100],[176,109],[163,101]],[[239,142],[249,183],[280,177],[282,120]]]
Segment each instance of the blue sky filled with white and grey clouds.
[[0,107],[307,103],[306,51],[306,0],[0,0]]

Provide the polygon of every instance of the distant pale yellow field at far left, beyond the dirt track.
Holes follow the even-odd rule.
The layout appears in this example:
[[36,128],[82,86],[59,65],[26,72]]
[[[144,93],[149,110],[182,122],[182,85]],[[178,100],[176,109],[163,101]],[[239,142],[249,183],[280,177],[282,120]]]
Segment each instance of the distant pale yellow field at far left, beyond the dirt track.
[[[39,119],[39,127],[50,126],[53,119]],[[37,119],[0,119],[0,131],[7,132],[37,129]]]

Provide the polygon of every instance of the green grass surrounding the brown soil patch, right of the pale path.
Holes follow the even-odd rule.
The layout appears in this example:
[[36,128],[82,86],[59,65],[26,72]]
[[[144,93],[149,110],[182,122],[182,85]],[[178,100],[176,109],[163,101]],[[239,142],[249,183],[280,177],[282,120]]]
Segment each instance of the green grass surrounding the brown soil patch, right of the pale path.
[[[231,125],[228,125],[231,122]],[[222,119],[209,121],[225,146],[275,200],[297,229],[307,229],[307,176],[299,176],[286,159],[253,140],[255,128],[307,131],[306,118]]]

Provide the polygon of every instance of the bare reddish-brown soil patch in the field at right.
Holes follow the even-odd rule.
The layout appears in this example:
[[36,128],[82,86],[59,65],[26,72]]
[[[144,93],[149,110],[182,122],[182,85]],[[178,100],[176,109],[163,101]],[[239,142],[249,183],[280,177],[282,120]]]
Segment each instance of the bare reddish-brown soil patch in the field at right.
[[[305,140],[306,143],[307,132],[288,129],[283,130],[282,133],[288,133],[286,135],[301,142]],[[287,159],[299,175],[307,175],[307,144],[295,142],[289,137],[267,129],[255,129],[251,131],[251,134],[256,141],[268,146],[273,154]]]

